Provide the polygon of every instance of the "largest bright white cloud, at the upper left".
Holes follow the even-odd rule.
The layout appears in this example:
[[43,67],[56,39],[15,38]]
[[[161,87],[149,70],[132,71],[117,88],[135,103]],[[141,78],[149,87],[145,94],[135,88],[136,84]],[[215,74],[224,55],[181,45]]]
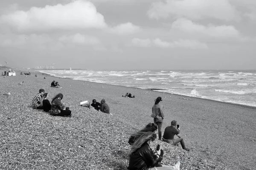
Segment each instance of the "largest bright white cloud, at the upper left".
[[106,27],[103,15],[97,12],[93,3],[84,0],[3,14],[0,24],[21,32]]

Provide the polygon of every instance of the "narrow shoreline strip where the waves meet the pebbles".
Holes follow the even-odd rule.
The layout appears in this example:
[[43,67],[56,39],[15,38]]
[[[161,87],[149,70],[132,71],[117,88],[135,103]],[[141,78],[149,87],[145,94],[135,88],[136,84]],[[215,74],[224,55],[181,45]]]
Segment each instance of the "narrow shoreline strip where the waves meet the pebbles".
[[[44,72],[40,72],[40,71],[37,71],[37,72],[44,73]],[[46,74],[46,73],[44,73],[44,74]],[[49,74],[49,75],[52,76],[52,77],[61,78],[61,79],[71,79],[71,80],[77,80],[77,81],[90,82],[90,81],[73,79],[73,78],[68,78],[68,77],[67,78],[65,78],[65,77],[57,77],[57,76],[53,76],[51,74]],[[93,82],[93,83],[99,83],[99,82]],[[99,83],[99,84],[111,85],[111,84],[106,84],[106,83]],[[125,88],[136,88],[136,87],[128,87],[128,86],[122,86],[122,85],[116,85],[116,86],[125,87]],[[231,103],[231,102],[222,102],[222,101],[213,100],[213,99],[205,99],[205,98],[200,98],[200,97],[186,96],[186,95],[182,95],[182,94],[174,94],[174,93],[168,93],[168,92],[159,91],[159,90],[165,90],[165,89],[156,89],[156,90],[151,90],[151,89],[155,89],[155,88],[148,88],[148,89],[138,88],[138,89],[148,90],[148,91],[157,91],[157,92],[165,93],[165,94],[173,94],[173,95],[177,95],[177,96],[185,96],[185,97],[190,97],[190,98],[194,98],[194,99],[204,99],[204,100],[209,100],[209,101],[213,101],[213,102],[221,102],[221,103],[226,103],[226,104],[229,104],[229,105],[241,106],[241,107],[244,107],[244,108],[256,109],[256,106],[242,105],[242,104],[239,104],[239,103]]]

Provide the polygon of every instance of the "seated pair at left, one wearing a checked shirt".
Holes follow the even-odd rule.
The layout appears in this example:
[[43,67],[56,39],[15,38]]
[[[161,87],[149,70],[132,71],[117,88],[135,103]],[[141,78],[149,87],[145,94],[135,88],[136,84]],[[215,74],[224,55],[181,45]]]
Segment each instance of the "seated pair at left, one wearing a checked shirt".
[[40,89],[39,93],[34,97],[32,101],[32,108],[41,109],[49,112],[52,116],[64,116],[71,117],[71,111],[69,108],[61,103],[63,99],[63,94],[57,94],[52,98],[52,104],[47,99],[48,94],[44,93],[44,89]]

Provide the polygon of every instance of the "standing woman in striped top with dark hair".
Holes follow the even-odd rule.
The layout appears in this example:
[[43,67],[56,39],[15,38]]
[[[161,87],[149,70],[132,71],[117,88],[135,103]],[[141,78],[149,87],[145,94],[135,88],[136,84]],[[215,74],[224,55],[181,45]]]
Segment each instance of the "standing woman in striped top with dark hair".
[[158,138],[159,140],[162,140],[162,125],[163,125],[163,105],[161,104],[162,102],[162,97],[157,97],[155,99],[154,106],[152,107],[152,114],[151,117],[154,118],[154,123],[157,124],[158,126]]

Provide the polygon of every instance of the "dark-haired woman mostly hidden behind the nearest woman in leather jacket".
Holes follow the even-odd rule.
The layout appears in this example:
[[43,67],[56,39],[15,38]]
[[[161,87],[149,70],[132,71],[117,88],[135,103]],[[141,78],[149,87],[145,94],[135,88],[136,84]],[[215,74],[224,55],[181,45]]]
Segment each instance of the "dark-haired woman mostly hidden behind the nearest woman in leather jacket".
[[128,143],[130,145],[132,145],[145,132],[154,132],[154,133],[156,133],[156,131],[157,131],[157,124],[155,124],[155,123],[148,123],[148,125],[146,125],[146,127],[144,127],[142,130],[132,134],[130,136],[130,138],[129,138]]

